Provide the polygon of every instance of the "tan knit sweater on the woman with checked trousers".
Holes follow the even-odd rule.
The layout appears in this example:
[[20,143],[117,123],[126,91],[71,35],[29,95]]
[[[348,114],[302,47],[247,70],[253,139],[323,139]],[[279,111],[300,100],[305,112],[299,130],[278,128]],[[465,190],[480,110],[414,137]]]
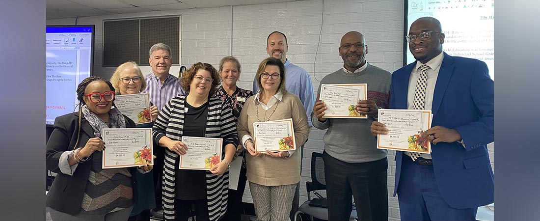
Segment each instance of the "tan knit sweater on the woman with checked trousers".
[[285,93],[280,102],[265,111],[255,96],[248,98],[238,118],[238,137],[241,138],[244,135],[253,137],[253,123],[258,122],[255,116],[255,106],[257,105],[259,105],[259,118],[261,120],[268,119],[268,116],[274,111],[274,105],[278,106],[270,120],[293,119],[297,149],[293,156],[288,158],[276,158],[268,155],[253,157],[246,153],[247,180],[265,186],[291,185],[300,182],[300,146],[306,143],[309,134],[306,110],[302,102],[293,93]]

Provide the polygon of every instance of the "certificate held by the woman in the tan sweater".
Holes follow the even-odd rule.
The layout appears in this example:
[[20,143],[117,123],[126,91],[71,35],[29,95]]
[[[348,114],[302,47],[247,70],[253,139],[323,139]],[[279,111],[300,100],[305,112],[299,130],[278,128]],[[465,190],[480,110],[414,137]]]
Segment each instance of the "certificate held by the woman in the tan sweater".
[[296,150],[293,119],[253,123],[255,151]]

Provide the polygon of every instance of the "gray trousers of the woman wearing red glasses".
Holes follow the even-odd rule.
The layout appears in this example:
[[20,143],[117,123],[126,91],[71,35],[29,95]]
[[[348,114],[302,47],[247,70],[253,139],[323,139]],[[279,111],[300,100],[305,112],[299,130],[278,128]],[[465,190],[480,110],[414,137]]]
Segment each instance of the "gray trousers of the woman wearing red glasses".
[[48,209],[52,221],[126,221],[128,218],[130,218],[130,213],[131,210],[133,210],[133,206],[102,215],[86,215],[79,213],[75,216],[53,210],[51,207],[48,207]]

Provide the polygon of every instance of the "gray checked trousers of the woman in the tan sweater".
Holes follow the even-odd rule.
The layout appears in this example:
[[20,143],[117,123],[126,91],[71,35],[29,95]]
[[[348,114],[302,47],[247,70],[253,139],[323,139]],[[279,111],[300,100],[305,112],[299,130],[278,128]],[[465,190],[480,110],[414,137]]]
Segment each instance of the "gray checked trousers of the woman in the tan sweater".
[[257,221],[290,221],[296,184],[264,186],[249,182]]

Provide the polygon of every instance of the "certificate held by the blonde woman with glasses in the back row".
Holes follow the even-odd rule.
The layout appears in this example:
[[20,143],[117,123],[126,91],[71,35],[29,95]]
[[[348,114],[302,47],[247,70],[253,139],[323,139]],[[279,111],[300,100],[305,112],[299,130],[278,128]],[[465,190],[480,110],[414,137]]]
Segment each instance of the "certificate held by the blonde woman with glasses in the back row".
[[135,124],[152,122],[149,93],[118,95],[114,98],[114,105],[125,116],[132,119]]

